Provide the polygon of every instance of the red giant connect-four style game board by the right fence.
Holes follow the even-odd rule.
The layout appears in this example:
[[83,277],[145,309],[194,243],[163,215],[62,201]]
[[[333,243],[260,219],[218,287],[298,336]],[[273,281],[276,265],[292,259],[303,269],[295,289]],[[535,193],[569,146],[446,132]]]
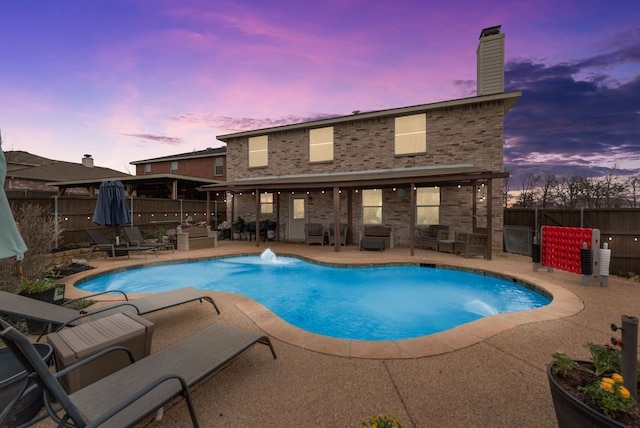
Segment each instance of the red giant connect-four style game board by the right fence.
[[593,229],[584,227],[542,226],[540,263],[580,274],[580,248],[584,242],[591,248],[592,234]]

